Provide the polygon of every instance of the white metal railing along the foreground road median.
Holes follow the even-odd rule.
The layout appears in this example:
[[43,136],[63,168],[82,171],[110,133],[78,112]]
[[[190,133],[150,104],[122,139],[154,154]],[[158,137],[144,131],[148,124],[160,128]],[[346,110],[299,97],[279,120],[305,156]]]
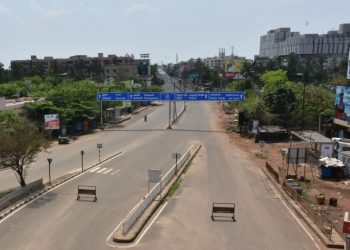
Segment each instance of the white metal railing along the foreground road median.
[[[134,225],[136,220],[141,216],[143,211],[151,204],[151,202],[161,193],[162,189],[170,182],[175,176],[176,172],[180,170],[184,163],[191,155],[192,145],[186,153],[179,159],[177,166],[173,165],[169,171],[162,177],[159,183],[157,183],[151,191],[136,205],[136,207],[128,214],[123,222],[123,234],[126,234],[130,228]],[[176,169],[177,168],[177,169]]]

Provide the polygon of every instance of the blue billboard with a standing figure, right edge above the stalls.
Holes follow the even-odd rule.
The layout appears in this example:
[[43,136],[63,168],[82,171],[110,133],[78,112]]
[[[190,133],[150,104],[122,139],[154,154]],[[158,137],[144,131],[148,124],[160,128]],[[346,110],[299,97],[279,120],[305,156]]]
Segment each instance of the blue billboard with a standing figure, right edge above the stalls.
[[333,122],[350,128],[350,87],[337,86]]

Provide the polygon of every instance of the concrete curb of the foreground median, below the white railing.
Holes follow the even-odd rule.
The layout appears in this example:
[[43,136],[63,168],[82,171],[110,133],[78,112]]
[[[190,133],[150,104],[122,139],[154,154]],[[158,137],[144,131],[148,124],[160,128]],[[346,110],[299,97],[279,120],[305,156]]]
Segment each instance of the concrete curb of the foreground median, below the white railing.
[[[181,170],[178,172],[177,175],[174,176],[174,178],[167,184],[166,187],[164,187],[163,191],[160,194],[161,199],[159,200],[153,200],[152,203],[145,209],[145,211],[141,214],[139,219],[135,222],[135,224],[132,226],[132,228],[124,235],[123,234],[123,227],[122,223],[120,223],[120,227],[117,228],[116,232],[113,235],[113,241],[116,243],[131,243],[135,241],[137,236],[140,234],[144,226],[147,224],[147,222],[151,219],[153,214],[157,211],[159,206],[167,199],[167,194],[172,187],[172,185],[182,176],[183,171],[185,170],[186,166],[193,160],[193,158],[197,155],[198,151],[201,149],[201,145],[197,145],[193,149],[193,153],[191,153],[191,156],[187,159],[187,161],[184,163],[184,166],[181,168]],[[125,221],[126,217],[122,220]]]

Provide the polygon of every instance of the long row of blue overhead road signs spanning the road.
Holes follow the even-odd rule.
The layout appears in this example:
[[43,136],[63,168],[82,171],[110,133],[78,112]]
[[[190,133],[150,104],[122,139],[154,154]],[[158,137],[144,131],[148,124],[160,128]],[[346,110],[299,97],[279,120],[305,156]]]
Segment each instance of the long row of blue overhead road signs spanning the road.
[[243,92],[98,93],[98,101],[243,101]]

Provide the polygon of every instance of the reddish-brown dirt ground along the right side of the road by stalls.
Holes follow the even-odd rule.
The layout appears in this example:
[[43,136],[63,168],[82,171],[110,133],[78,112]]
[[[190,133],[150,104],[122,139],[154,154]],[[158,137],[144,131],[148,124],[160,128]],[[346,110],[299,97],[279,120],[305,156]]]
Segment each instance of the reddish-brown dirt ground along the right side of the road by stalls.
[[[225,130],[227,124],[232,121],[232,115],[227,115],[224,110],[220,111],[221,129]],[[260,168],[265,168],[266,161],[276,170],[279,168],[287,169],[287,163],[283,162],[281,149],[288,148],[290,142],[282,143],[265,143],[263,147],[264,159],[260,157],[260,146],[254,142],[254,138],[242,137],[239,133],[232,132],[228,134],[230,142],[235,144],[239,148],[246,152],[250,152],[249,157]],[[297,142],[292,142],[292,146],[295,146]],[[308,159],[306,167],[299,166],[297,168],[298,176],[304,176],[310,180],[309,184],[302,185],[304,187],[304,199],[311,205],[318,207],[324,211],[324,214],[333,222],[338,232],[342,232],[344,212],[350,212],[350,179],[344,179],[341,181],[323,180],[318,177],[317,159]],[[289,167],[289,174],[295,174],[295,170],[292,166]],[[326,201],[324,205],[317,204],[315,196],[317,194],[325,194]],[[329,206],[329,199],[337,199],[337,207]]]

